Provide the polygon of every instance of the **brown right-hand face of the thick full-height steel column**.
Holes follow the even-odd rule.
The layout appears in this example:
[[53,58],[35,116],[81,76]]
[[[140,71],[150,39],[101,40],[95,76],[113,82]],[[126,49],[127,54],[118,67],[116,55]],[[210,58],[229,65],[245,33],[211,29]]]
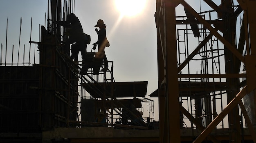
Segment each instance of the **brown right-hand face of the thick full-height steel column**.
[[180,108],[179,104],[179,86],[177,77],[177,49],[176,49],[176,16],[175,7],[177,6],[175,0],[166,0],[164,3],[165,14],[165,50],[164,57],[166,69],[166,111],[168,126],[168,137],[170,143],[180,143]]

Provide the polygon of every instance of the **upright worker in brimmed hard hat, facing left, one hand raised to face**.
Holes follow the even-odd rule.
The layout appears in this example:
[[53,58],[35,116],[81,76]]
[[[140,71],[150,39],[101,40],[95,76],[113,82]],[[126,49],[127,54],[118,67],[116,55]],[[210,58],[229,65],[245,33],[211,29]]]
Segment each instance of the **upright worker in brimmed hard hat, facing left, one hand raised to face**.
[[110,44],[106,37],[106,24],[104,24],[103,20],[98,20],[97,25],[95,25],[94,27],[99,27],[99,30],[97,28],[95,28],[95,31],[98,34],[98,41],[92,44],[92,45],[94,45],[94,48],[93,48],[94,50],[96,48],[96,44],[98,45],[98,53],[95,54],[95,58],[98,58],[98,59],[103,58],[104,67],[102,70],[107,71],[108,70],[108,59],[107,59],[104,49],[105,49],[105,47],[109,47]]

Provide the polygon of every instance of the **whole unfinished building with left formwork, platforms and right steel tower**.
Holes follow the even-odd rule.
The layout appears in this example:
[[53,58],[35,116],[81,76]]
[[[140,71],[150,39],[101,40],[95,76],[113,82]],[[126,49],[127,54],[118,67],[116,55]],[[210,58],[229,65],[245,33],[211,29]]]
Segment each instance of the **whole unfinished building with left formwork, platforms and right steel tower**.
[[[1,46],[0,142],[256,143],[256,1],[201,3],[208,10],[198,13],[185,0],[156,0],[154,121],[147,81],[115,82],[114,62],[101,71],[94,52],[70,58],[67,29],[57,23],[67,21],[74,2],[48,0],[47,26],[40,41],[29,41],[39,63],[30,56],[2,63]],[[176,15],[178,8],[185,15]],[[152,116],[141,119],[144,104]]]

